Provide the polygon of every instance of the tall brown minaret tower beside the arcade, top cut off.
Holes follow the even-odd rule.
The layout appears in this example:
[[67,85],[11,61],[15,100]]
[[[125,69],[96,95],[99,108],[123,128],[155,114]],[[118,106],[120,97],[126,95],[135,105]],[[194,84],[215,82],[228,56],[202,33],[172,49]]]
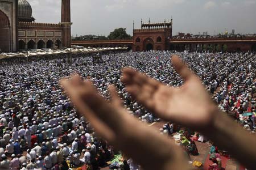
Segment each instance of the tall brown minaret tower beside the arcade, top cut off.
[[61,25],[63,27],[63,46],[71,48],[71,14],[70,0],[61,2]]

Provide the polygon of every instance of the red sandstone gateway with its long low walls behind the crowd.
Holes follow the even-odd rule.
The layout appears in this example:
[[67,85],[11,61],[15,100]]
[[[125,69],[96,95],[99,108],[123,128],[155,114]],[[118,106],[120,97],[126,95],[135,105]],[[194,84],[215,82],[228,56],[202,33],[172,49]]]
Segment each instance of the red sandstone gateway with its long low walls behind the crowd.
[[173,20],[162,23],[141,21],[141,28],[133,28],[131,40],[93,40],[72,41],[72,45],[85,47],[128,47],[134,52],[147,50],[176,50],[183,52],[256,52],[256,37],[208,37],[208,38],[176,38],[172,36]]

